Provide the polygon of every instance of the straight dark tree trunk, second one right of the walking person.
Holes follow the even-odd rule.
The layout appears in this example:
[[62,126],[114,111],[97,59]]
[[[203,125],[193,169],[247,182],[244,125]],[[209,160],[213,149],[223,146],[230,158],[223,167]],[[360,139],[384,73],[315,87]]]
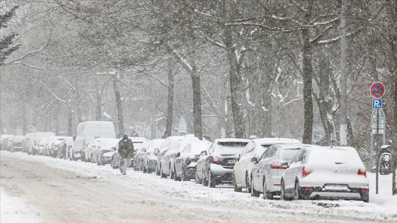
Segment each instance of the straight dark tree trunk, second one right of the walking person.
[[193,87],[193,126],[194,136],[203,139],[203,128],[201,122],[201,83],[200,76],[191,74],[191,84]]

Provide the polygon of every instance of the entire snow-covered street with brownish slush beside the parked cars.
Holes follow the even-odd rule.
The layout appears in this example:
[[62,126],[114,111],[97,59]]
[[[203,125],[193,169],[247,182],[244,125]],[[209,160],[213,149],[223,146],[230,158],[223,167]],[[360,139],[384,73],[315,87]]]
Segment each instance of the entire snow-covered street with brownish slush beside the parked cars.
[[[1,222],[396,222],[391,175],[375,174],[369,203],[280,201],[229,185],[162,179],[128,168],[1,151]],[[72,221],[70,220],[72,219]]]

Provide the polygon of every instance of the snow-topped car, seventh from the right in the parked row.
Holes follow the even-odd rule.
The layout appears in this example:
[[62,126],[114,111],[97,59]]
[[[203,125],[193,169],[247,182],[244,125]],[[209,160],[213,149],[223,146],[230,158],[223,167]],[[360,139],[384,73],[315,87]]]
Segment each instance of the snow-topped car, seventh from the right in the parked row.
[[159,154],[162,142],[165,139],[152,139],[143,154],[143,173],[152,173],[156,171],[157,154]]

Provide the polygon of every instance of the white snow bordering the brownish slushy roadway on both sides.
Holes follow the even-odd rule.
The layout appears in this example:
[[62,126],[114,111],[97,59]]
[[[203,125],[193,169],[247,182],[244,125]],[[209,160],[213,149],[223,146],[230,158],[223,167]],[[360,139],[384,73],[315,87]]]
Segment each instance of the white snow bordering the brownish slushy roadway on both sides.
[[[7,151],[1,151],[1,154]],[[8,153],[8,152],[7,152]],[[99,178],[104,181],[116,182],[118,185],[133,185],[142,193],[152,194],[152,198],[175,200],[179,205],[181,200],[194,201],[211,201],[216,204],[216,208],[225,208],[224,205],[233,203],[242,207],[258,207],[271,209],[276,212],[301,212],[301,213],[325,213],[335,216],[357,216],[374,219],[387,219],[391,222],[397,222],[397,195],[391,195],[392,176],[379,175],[379,194],[375,194],[375,173],[368,173],[370,181],[370,200],[369,203],[361,201],[347,200],[299,200],[299,201],[281,201],[281,200],[263,200],[252,198],[248,193],[236,193],[230,185],[220,185],[216,188],[208,188],[198,185],[194,181],[178,182],[169,179],[162,179],[155,176],[155,173],[142,173],[133,171],[128,168],[127,176],[121,176],[118,169],[112,169],[111,166],[97,166],[96,164],[84,163],[82,161],[67,161],[53,159],[47,156],[28,156],[23,153],[7,154],[7,156],[16,156],[18,159],[35,160],[67,171],[79,173],[87,178]],[[125,181],[125,179],[128,179]],[[0,222],[40,222],[40,216],[35,212],[35,207],[18,197],[6,194],[1,188],[1,219]],[[152,199],[148,198],[148,199]],[[171,201],[172,202],[172,201]],[[187,203],[187,202],[186,202]],[[189,205],[189,204],[186,204]],[[23,212],[16,211],[21,210]],[[213,206],[208,207],[213,208]],[[242,210],[244,212],[247,210]],[[359,220],[358,220],[359,222]]]

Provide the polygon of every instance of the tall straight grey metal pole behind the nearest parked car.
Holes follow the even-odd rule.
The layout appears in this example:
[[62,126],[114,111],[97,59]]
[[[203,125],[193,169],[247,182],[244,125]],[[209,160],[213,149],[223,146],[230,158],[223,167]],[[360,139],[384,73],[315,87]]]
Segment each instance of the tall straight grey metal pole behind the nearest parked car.
[[342,15],[340,19],[340,145],[347,145],[347,91],[346,91],[346,55],[347,55],[347,18],[346,18],[346,0],[342,0]]

